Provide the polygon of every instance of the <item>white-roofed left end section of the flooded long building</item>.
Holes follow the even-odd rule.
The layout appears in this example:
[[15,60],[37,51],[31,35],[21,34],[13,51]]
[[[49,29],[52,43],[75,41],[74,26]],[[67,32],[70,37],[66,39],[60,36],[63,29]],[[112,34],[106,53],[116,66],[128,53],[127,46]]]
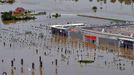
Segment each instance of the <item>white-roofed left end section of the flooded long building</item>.
[[75,37],[81,37],[81,33],[78,29],[78,27],[85,26],[83,23],[77,23],[77,24],[65,24],[65,25],[52,25],[51,31],[52,34],[58,34],[63,36],[75,36]]

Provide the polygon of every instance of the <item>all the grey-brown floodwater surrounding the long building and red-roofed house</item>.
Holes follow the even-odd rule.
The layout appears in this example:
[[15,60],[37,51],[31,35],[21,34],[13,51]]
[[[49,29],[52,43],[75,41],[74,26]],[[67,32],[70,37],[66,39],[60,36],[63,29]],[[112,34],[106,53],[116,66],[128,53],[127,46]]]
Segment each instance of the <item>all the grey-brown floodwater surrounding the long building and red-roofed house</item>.
[[[123,14],[133,12],[131,5],[121,5],[119,2],[108,2],[108,4],[107,10],[114,10],[115,14],[122,11],[124,11]],[[0,22],[0,74],[6,72],[7,75],[133,75],[133,50],[107,44],[98,47],[93,44],[87,46],[83,40],[51,34],[49,26],[52,24],[67,22],[85,23],[87,26],[110,24],[109,20],[76,15],[77,13],[93,12],[91,10],[93,5],[104,5],[105,7],[106,4],[96,0],[93,2],[89,2],[89,0],[79,0],[78,2],[71,0],[17,0],[13,5],[1,4],[1,11],[22,6],[35,11],[60,12],[62,16],[49,18],[49,14],[47,14],[37,16],[36,20],[10,24]],[[113,6],[117,8],[114,9]],[[123,6],[122,11],[117,11],[121,6]],[[23,59],[23,64],[21,59]],[[92,62],[80,63],[79,60]],[[34,63],[33,66],[32,63]]]

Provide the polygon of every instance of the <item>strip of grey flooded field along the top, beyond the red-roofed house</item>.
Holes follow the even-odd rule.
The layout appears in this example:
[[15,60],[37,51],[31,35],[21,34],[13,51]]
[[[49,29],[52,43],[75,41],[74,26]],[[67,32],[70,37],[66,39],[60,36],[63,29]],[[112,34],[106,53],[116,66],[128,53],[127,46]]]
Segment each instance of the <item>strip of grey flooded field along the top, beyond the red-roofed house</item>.
[[14,4],[1,4],[0,10],[9,11],[16,7],[23,7],[34,11],[44,10],[48,12],[78,14],[92,13],[93,6],[97,7],[97,12],[103,12],[105,14],[132,16],[133,13],[133,1],[131,0],[16,0]]

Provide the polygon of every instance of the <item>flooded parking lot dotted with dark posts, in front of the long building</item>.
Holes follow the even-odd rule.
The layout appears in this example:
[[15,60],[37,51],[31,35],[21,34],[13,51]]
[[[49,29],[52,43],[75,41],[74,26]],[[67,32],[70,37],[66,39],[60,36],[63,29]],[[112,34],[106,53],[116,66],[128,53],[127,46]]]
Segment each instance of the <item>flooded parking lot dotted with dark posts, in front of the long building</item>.
[[[23,28],[21,32],[19,32],[21,29],[14,26],[0,30],[1,73],[7,72],[9,75],[31,75],[33,72],[32,75],[112,75],[113,72],[115,75],[133,74],[133,50],[116,46],[114,48],[106,44],[96,48],[86,46],[79,39],[50,34],[49,27],[43,24],[20,27]],[[130,54],[131,57],[126,56]],[[80,60],[89,62],[80,62]],[[35,64],[33,70],[32,63]],[[21,72],[22,68],[23,72]]]

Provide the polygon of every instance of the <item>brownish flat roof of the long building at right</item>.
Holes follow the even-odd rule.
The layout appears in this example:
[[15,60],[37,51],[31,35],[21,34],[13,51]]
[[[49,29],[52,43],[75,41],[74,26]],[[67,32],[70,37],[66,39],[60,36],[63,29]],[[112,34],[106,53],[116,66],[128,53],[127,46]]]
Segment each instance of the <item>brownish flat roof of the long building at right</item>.
[[96,26],[96,27],[86,27],[83,28],[86,30],[92,30],[96,32],[105,32],[110,34],[119,34],[124,36],[131,37],[132,34],[134,34],[134,25],[110,25],[110,26]]

